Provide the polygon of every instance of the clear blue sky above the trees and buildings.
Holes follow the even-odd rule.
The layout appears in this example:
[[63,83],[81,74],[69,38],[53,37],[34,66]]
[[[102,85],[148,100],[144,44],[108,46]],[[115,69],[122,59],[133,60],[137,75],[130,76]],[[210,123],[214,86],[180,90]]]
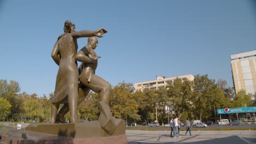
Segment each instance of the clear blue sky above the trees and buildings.
[[256,50],[255,1],[2,0],[0,79],[39,97],[54,92],[58,66],[51,51],[67,19],[77,31],[107,29],[96,49],[96,74],[112,86],[208,74],[232,87],[230,55]]

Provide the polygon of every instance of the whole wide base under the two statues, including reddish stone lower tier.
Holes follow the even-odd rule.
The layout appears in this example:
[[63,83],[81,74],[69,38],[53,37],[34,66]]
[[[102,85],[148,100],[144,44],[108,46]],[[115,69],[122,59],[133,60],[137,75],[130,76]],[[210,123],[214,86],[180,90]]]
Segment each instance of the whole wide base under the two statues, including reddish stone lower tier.
[[[112,135],[101,128],[98,121],[80,122],[76,124],[30,124],[25,129],[11,127],[0,128],[2,143],[13,144],[54,144],[54,143],[127,143],[125,121],[115,119],[117,127]],[[22,139],[22,133],[27,139]]]

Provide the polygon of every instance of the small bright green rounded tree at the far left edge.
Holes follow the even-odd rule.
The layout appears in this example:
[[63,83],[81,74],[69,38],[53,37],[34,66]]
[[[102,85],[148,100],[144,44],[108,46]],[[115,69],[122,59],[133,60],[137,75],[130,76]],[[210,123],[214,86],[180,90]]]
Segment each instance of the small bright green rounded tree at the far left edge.
[[10,114],[11,105],[9,101],[4,98],[0,98],[0,121],[5,121]]

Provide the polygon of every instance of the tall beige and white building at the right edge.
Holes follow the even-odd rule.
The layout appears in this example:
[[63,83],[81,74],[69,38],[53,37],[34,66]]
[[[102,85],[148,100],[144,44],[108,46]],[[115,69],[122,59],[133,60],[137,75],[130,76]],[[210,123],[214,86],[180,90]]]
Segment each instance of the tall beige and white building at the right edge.
[[[256,50],[231,55],[232,78],[235,92],[256,92]],[[254,98],[252,98],[254,99]]]

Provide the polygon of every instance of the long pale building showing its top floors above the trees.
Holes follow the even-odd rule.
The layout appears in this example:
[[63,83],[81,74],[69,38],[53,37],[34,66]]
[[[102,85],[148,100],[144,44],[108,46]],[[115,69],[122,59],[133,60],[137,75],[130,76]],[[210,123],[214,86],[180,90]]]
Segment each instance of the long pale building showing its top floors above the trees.
[[182,80],[189,80],[193,81],[194,76],[193,75],[182,75],[182,76],[176,76],[176,77],[169,77],[166,78],[165,76],[156,76],[156,80],[153,81],[145,81],[145,82],[139,82],[134,84],[135,91],[143,91],[144,89],[158,89],[160,87],[166,87],[167,82],[173,83],[173,81],[176,78],[182,79]]

